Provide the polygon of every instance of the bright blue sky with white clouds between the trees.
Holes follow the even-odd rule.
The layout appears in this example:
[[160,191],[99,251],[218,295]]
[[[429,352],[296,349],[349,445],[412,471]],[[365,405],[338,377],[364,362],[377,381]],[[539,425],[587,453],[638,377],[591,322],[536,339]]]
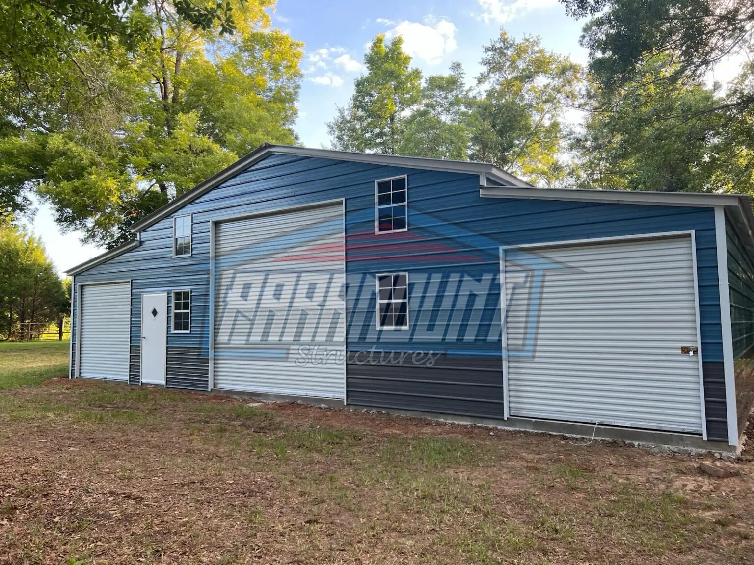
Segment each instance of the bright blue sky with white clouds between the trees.
[[[557,0],[278,0],[272,20],[305,44],[295,130],[307,147],[329,146],[326,123],[337,106],[348,103],[366,47],[379,33],[402,35],[403,50],[425,76],[444,74],[450,63],[459,61],[467,78],[474,78],[483,46],[501,28],[519,39],[538,35],[547,50],[587,63],[587,51],[578,42],[584,20],[568,17]],[[728,78],[727,70],[715,78]],[[61,274],[103,252],[82,245],[81,234],[61,234],[44,204],[38,204],[28,224]]]

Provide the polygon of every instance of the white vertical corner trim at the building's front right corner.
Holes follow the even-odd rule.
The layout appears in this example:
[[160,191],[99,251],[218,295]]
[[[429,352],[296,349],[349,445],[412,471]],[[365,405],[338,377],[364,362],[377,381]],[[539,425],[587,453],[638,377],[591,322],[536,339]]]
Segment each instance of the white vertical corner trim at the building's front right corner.
[[736,413],[736,375],[733,368],[733,334],[731,329],[731,291],[728,286],[728,245],[725,238],[725,208],[715,207],[717,276],[720,291],[722,325],[722,361],[725,371],[725,408],[728,413],[728,444],[738,445]]

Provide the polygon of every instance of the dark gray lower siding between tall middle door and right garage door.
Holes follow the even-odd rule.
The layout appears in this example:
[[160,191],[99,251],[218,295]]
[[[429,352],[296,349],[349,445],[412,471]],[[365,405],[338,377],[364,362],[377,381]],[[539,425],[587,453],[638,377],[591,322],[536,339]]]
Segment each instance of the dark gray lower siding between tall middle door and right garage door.
[[499,356],[391,353],[348,353],[348,404],[504,417]]

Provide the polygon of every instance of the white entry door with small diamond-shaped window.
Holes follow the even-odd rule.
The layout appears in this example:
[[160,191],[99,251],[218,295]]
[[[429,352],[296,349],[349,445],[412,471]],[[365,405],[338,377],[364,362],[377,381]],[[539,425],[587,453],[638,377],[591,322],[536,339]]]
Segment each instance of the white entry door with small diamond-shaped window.
[[165,384],[167,293],[142,295],[142,383]]

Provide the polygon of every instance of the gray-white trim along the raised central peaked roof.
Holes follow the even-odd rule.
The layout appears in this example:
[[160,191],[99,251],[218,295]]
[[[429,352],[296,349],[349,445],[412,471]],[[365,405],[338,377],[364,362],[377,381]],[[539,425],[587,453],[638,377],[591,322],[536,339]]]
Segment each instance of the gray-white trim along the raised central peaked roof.
[[335,151],[333,149],[314,149],[306,147],[293,147],[293,145],[270,145],[268,143],[260,145],[250,154],[241,157],[235,163],[223,169],[219,173],[210,176],[204,182],[196,185],[190,191],[182,194],[173,202],[168,203],[161,209],[148,215],[140,221],[137,221],[130,227],[134,233],[157,223],[162,218],[176,212],[186,204],[192,202],[202,194],[211,191],[218,185],[230,179],[232,176],[248,169],[254,163],[268,157],[272,154],[300,155],[301,157],[319,157],[321,159],[336,159],[345,161],[354,161],[357,163],[373,163],[375,165],[404,166],[411,169],[426,169],[437,171],[449,171],[452,173],[470,173],[474,175],[488,175],[493,179],[505,185],[518,187],[531,187],[529,183],[517,178],[516,176],[506,173],[497,166],[490,163],[477,163],[474,161],[456,161],[449,159],[431,159],[428,157],[403,157],[400,155],[383,155],[379,153],[355,153],[353,151]]

